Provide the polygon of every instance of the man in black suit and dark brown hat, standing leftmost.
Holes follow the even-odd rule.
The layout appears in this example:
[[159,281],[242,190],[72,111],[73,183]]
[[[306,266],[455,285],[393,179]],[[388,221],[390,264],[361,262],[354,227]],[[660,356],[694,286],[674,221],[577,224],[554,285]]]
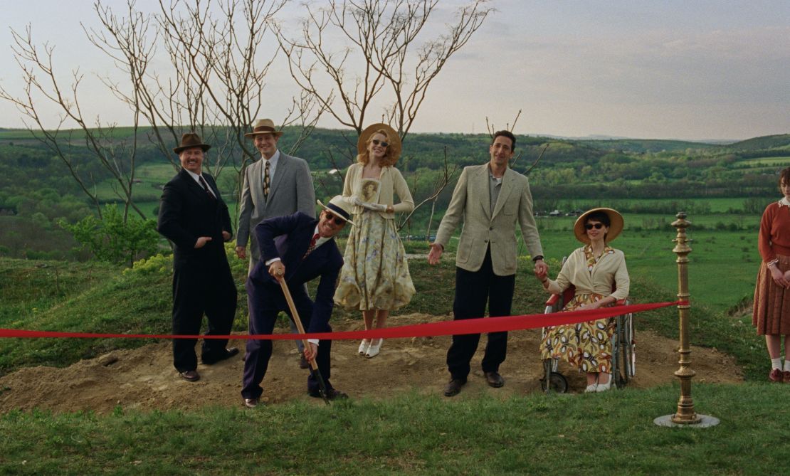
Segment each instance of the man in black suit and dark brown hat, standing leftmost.
[[[175,243],[173,253],[173,334],[197,335],[203,313],[206,335],[228,335],[236,312],[236,286],[223,242],[231,239],[228,205],[214,178],[202,171],[211,148],[200,136],[186,133],[179,147],[181,171],[164,186],[157,230]],[[173,365],[190,382],[200,379],[196,339],[173,339]],[[201,361],[211,365],[239,353],[226,349],[228,339],[204,339]]]

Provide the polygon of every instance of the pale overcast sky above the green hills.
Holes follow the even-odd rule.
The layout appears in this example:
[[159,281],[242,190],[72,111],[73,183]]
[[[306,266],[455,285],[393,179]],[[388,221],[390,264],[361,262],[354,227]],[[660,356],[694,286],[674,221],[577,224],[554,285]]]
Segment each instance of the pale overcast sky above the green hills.
[[[443,10],[463,3],[440,0]],[[481,133],[486,118],[504,127],[521,109],[516,133],[690,140],[790,133],[787,0],[491,4],[498,11],[434,81],[413,132]],[[154,5],[137,1],[144,10]],[[282,21],[302,13],[294,2]],[[113,65],[88,43],[81,22],[97,24],[88,0],[2,0],[0,82],[23,92],[10,28],[31,24],[36,43],[55,45],[64,74],[77,66],[88,73],[81,97],[89,113],[129,123],[128,111],[93,79]],[[280,118],[280,99],[294,92],[284,61],[274,63],[267,83],[264,115]],[[57,113],[45,111],[54,126]],[[329,117],[320,125],[340,127]],[[21,114],[0,100],[0,127],[22,126]]]

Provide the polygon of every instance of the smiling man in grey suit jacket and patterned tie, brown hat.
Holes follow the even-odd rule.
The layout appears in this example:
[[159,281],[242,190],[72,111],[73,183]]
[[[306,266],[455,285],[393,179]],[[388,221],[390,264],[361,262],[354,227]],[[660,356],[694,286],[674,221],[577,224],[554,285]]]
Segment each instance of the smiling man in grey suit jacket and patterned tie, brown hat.
[[[239,234],[236,237],[236,256],[247,257],[246,245],[250,242],[250,274],[261,259],[261,249],[251,232],[264,219],[290,216],[302,212],[315,218],[315,191],[310,167],[299,157],[292,157],[277,149],[283,131],[276,130],[271,119],[258,119],[251,133],[244,134],[255,143],[261,159],[244,171],[242,197],[239,202]],[[251,239],[250,239],[251,237]],[[291,329],[296,332],[292,322]],[[303,355],[301,341],[296,341],[299,355]],[[307,361],[300,361],[307,368]]]

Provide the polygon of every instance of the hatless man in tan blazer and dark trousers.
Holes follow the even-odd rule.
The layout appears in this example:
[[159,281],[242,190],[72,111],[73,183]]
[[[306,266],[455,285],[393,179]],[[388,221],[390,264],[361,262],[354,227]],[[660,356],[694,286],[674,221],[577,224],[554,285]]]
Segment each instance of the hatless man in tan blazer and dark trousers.
[[[489,316],[510,316],[517,268],[516,224],[521,227],[536,271],[548,270],[532,216],[529,181],[508,167],[515,146],[516,137],[512,133],[498,131],[488,148],[491,160],[464,168],[436,239],[431,243],[428,262],[437,264],[463,217],[455,259],[454,320],[483,317],[486,302]],[[457,395],[466,384],[469,362],[479,342],[480,334],[453,335],[453,344],[447,351],[450,383],[445,388],[446,396]],[[482,366],[491,387],[505,384],[499,375],[499,365],[505,361],[506,350],[507,332],[488,335]]]

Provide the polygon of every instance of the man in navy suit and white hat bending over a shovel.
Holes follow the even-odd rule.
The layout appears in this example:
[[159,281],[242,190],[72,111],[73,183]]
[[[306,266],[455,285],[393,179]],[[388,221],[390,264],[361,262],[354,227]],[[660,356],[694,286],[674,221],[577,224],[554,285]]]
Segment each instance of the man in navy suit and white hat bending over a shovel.
[[[296,311],[307,332],[332,332],[329,317],[334,306],[333,295],[337,275],[343,266],[343,255],[333,239],[343,229],[351,215],[352,204],[337,195],[324,208],[318,219],[302,212],[265,219],[255,227],[255,238],[261,246],[261,260],[247,278],[246,289],[250,302],[250,334],[272,334],[277,313],[291,315],[278,279],[285,279]],[[353,223],[352,223],[353,224]],[[307,295],[304,286],[320,278],[315,301]],[[291,316],[293,318],[293,316]],[[329,399],[348,398],[333,388],[329,381],[329,354],[331,340],[310,340],[304,350],[307,360],[316,359],[318,370],[325,379]],[[258,405],[263,389],[261,381],[272,356],[271,340],[248,340],[244,362],[242,396],[249,408]],[[320,397],[318,381],[310,373],[307,391]]]

